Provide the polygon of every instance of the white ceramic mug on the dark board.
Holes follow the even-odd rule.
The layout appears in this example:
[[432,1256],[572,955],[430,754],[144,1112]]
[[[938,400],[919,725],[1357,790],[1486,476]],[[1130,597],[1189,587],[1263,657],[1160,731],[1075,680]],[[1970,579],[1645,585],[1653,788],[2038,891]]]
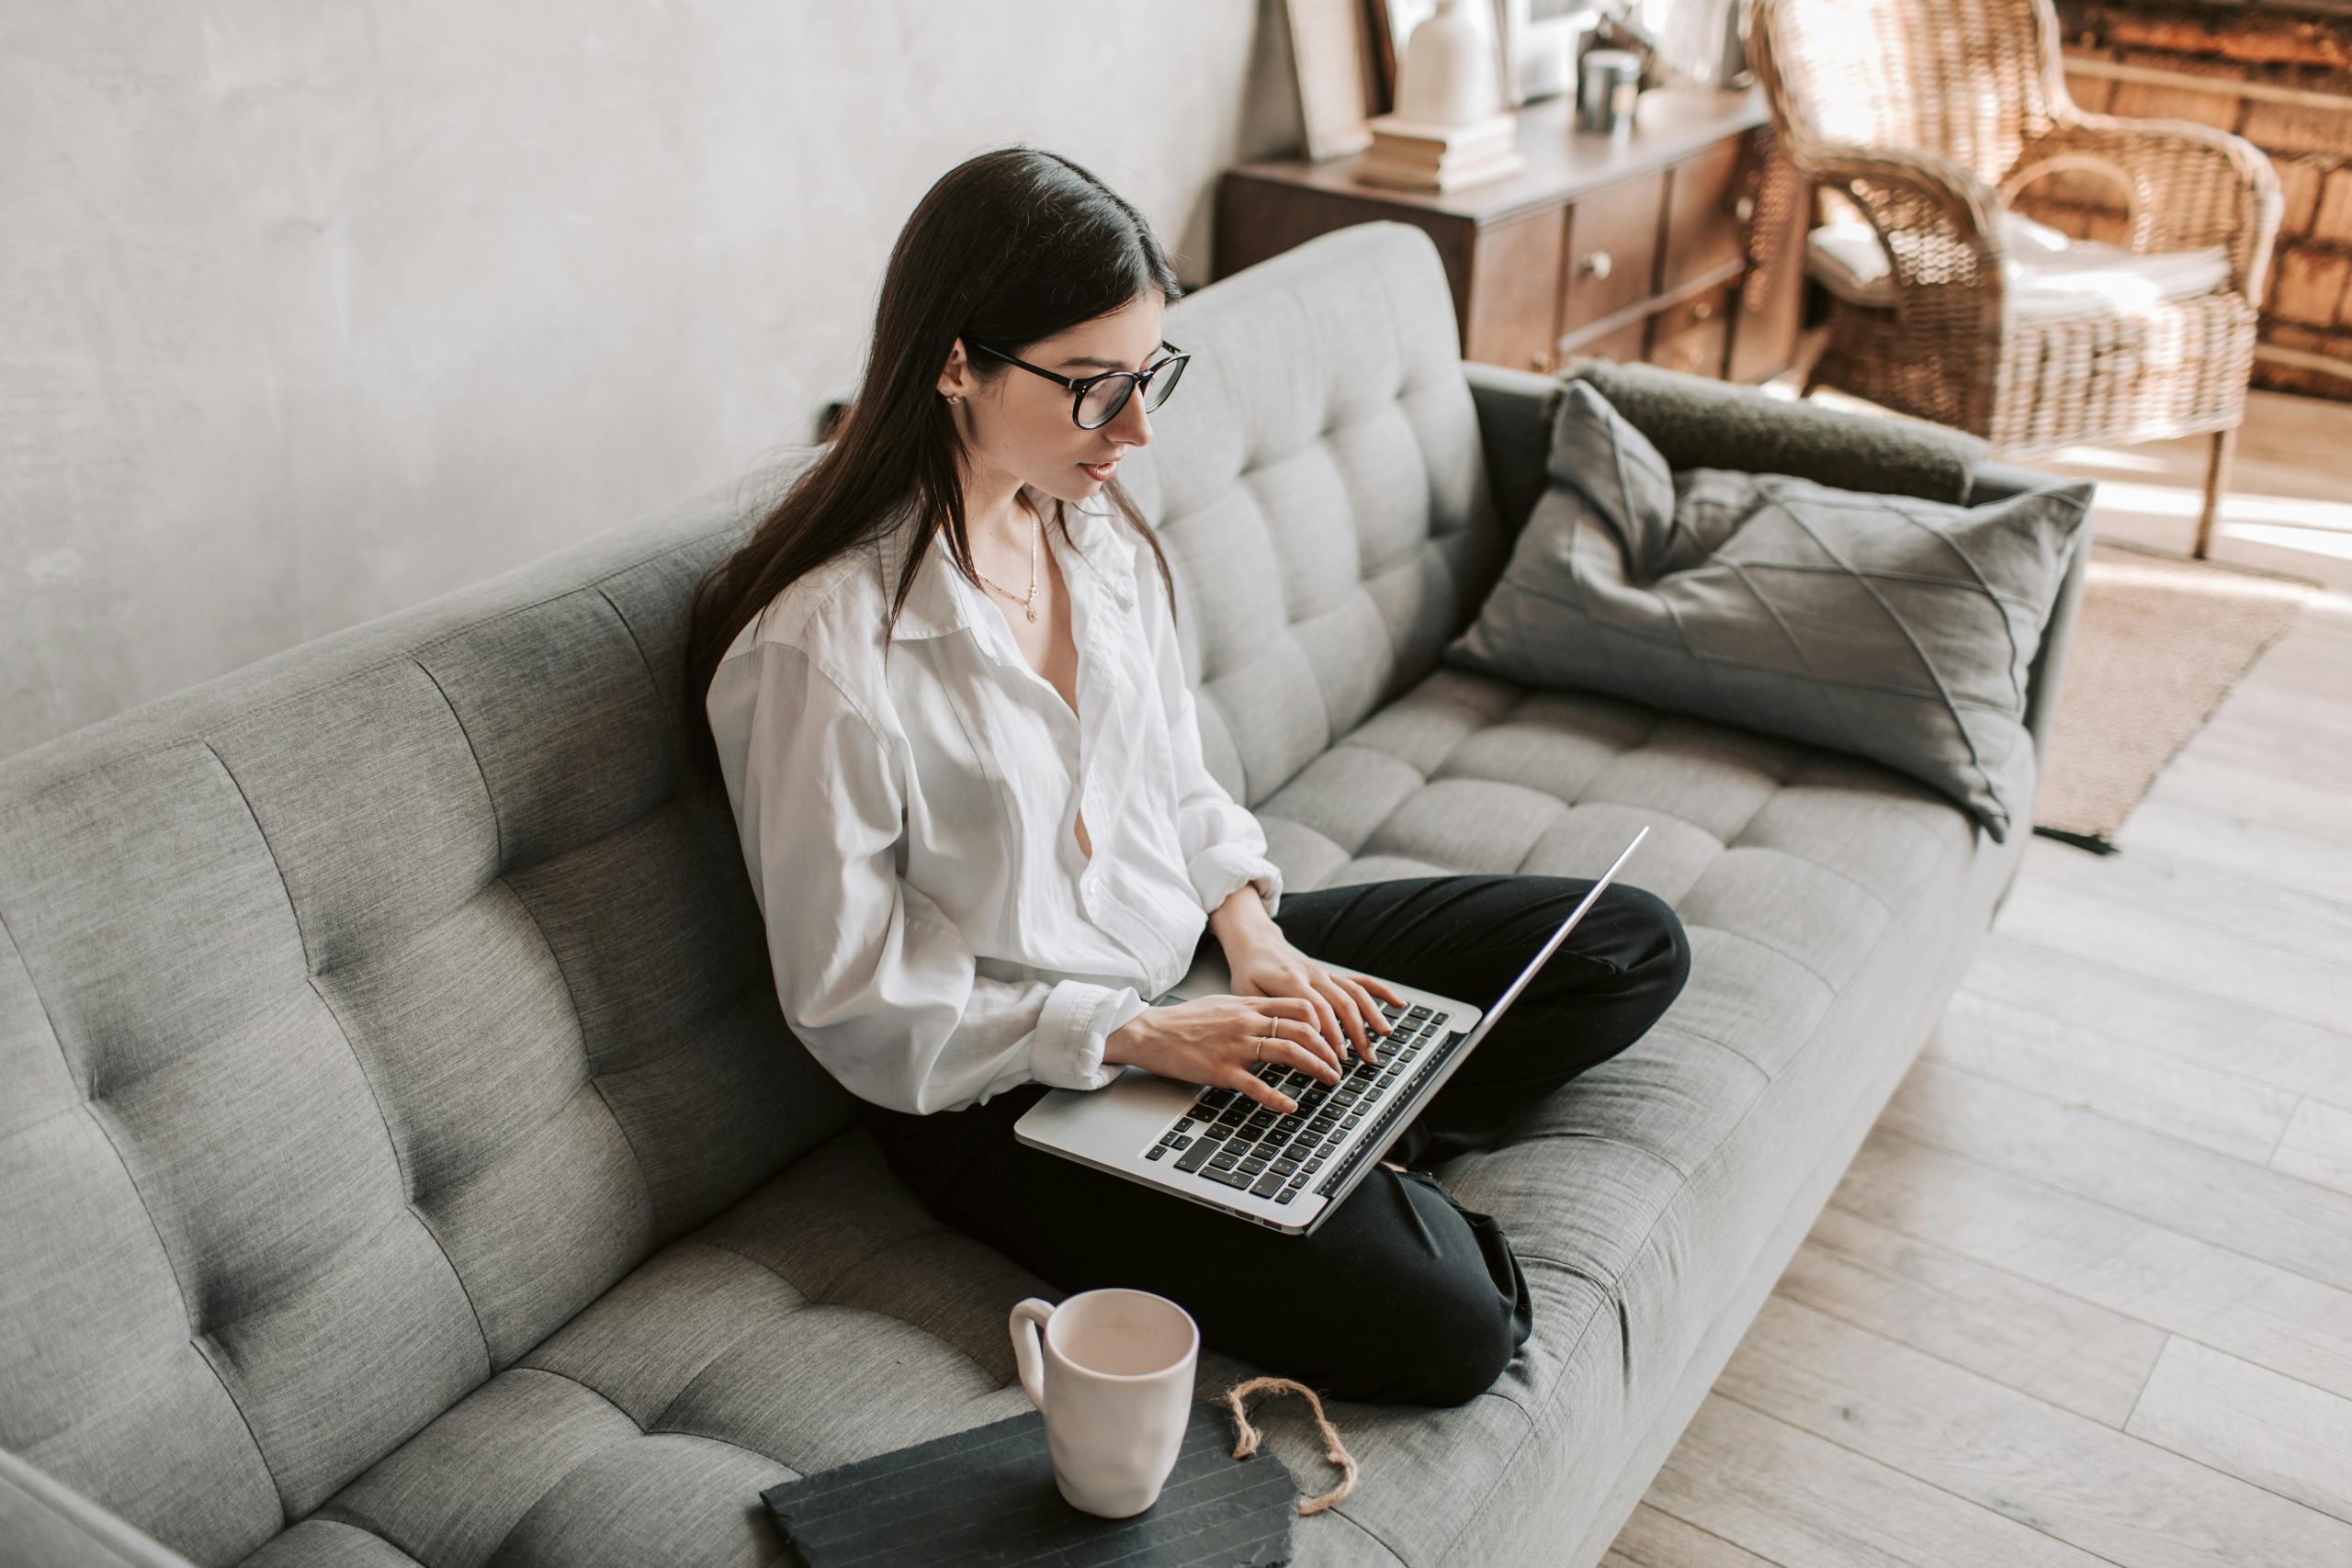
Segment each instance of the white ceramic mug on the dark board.
[[1150,1291],[1080,1291],[1058,1307],[1033,1295],[1011,1333],[1063,1500],[1103,1519],[1160,1502],[1192,1415],[1192,1314]]

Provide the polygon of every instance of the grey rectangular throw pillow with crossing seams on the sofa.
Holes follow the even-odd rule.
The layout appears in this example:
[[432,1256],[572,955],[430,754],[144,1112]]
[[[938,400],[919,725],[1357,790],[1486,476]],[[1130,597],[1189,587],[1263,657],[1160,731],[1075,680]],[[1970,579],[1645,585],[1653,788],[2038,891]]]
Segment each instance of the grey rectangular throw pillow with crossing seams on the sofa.
[[1990,505],[1693,468],[1571,381],[1536,503],[1446,661],[1858,752],[1994,839],[2030,818],[2025,670],[2089,484]]

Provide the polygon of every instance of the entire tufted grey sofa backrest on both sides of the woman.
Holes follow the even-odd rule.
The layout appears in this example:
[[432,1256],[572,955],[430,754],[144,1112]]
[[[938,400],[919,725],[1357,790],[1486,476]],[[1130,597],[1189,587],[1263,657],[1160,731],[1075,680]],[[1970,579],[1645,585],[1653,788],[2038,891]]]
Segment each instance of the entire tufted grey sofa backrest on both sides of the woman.
[[[1169,320],[1129,484],[1261,799],[1501,538],[1421,230]],[[0,1446],[235,1561],[849,1126],[677,748],[689,592],[802,461],[0,759]]]

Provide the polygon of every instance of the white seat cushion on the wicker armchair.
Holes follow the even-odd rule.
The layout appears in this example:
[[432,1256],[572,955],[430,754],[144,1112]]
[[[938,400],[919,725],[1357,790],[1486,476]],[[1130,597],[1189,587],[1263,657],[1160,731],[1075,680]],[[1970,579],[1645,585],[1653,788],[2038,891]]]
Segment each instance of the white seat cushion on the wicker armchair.
[[[2056,322],[2147,310],[2230,282],[2230,256],[2218,244],[2136,256],[2100,240],[2070,240],[2016,212],[2002,214],[2002,242],[2009,252],[2002,270],[2009,277],[2013,320]],[[1891,310],[1896,303],[1886,249],[1860,219],[1816,228],[1804,244],[1804,270],[1849,306]]]

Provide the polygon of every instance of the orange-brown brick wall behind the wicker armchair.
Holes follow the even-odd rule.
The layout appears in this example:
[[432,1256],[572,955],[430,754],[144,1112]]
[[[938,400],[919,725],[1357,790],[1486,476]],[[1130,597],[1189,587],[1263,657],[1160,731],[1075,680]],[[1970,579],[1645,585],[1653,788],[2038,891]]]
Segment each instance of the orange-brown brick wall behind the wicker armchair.
[[[2253,381],[2352,400],[2352,5],[2058,0],[2058,14],[2084,108],[2218,125],[2270,153],[2286,219]],[[2105,181],[2042,181],[2018,205],[2070,233],[2124,226]]]

